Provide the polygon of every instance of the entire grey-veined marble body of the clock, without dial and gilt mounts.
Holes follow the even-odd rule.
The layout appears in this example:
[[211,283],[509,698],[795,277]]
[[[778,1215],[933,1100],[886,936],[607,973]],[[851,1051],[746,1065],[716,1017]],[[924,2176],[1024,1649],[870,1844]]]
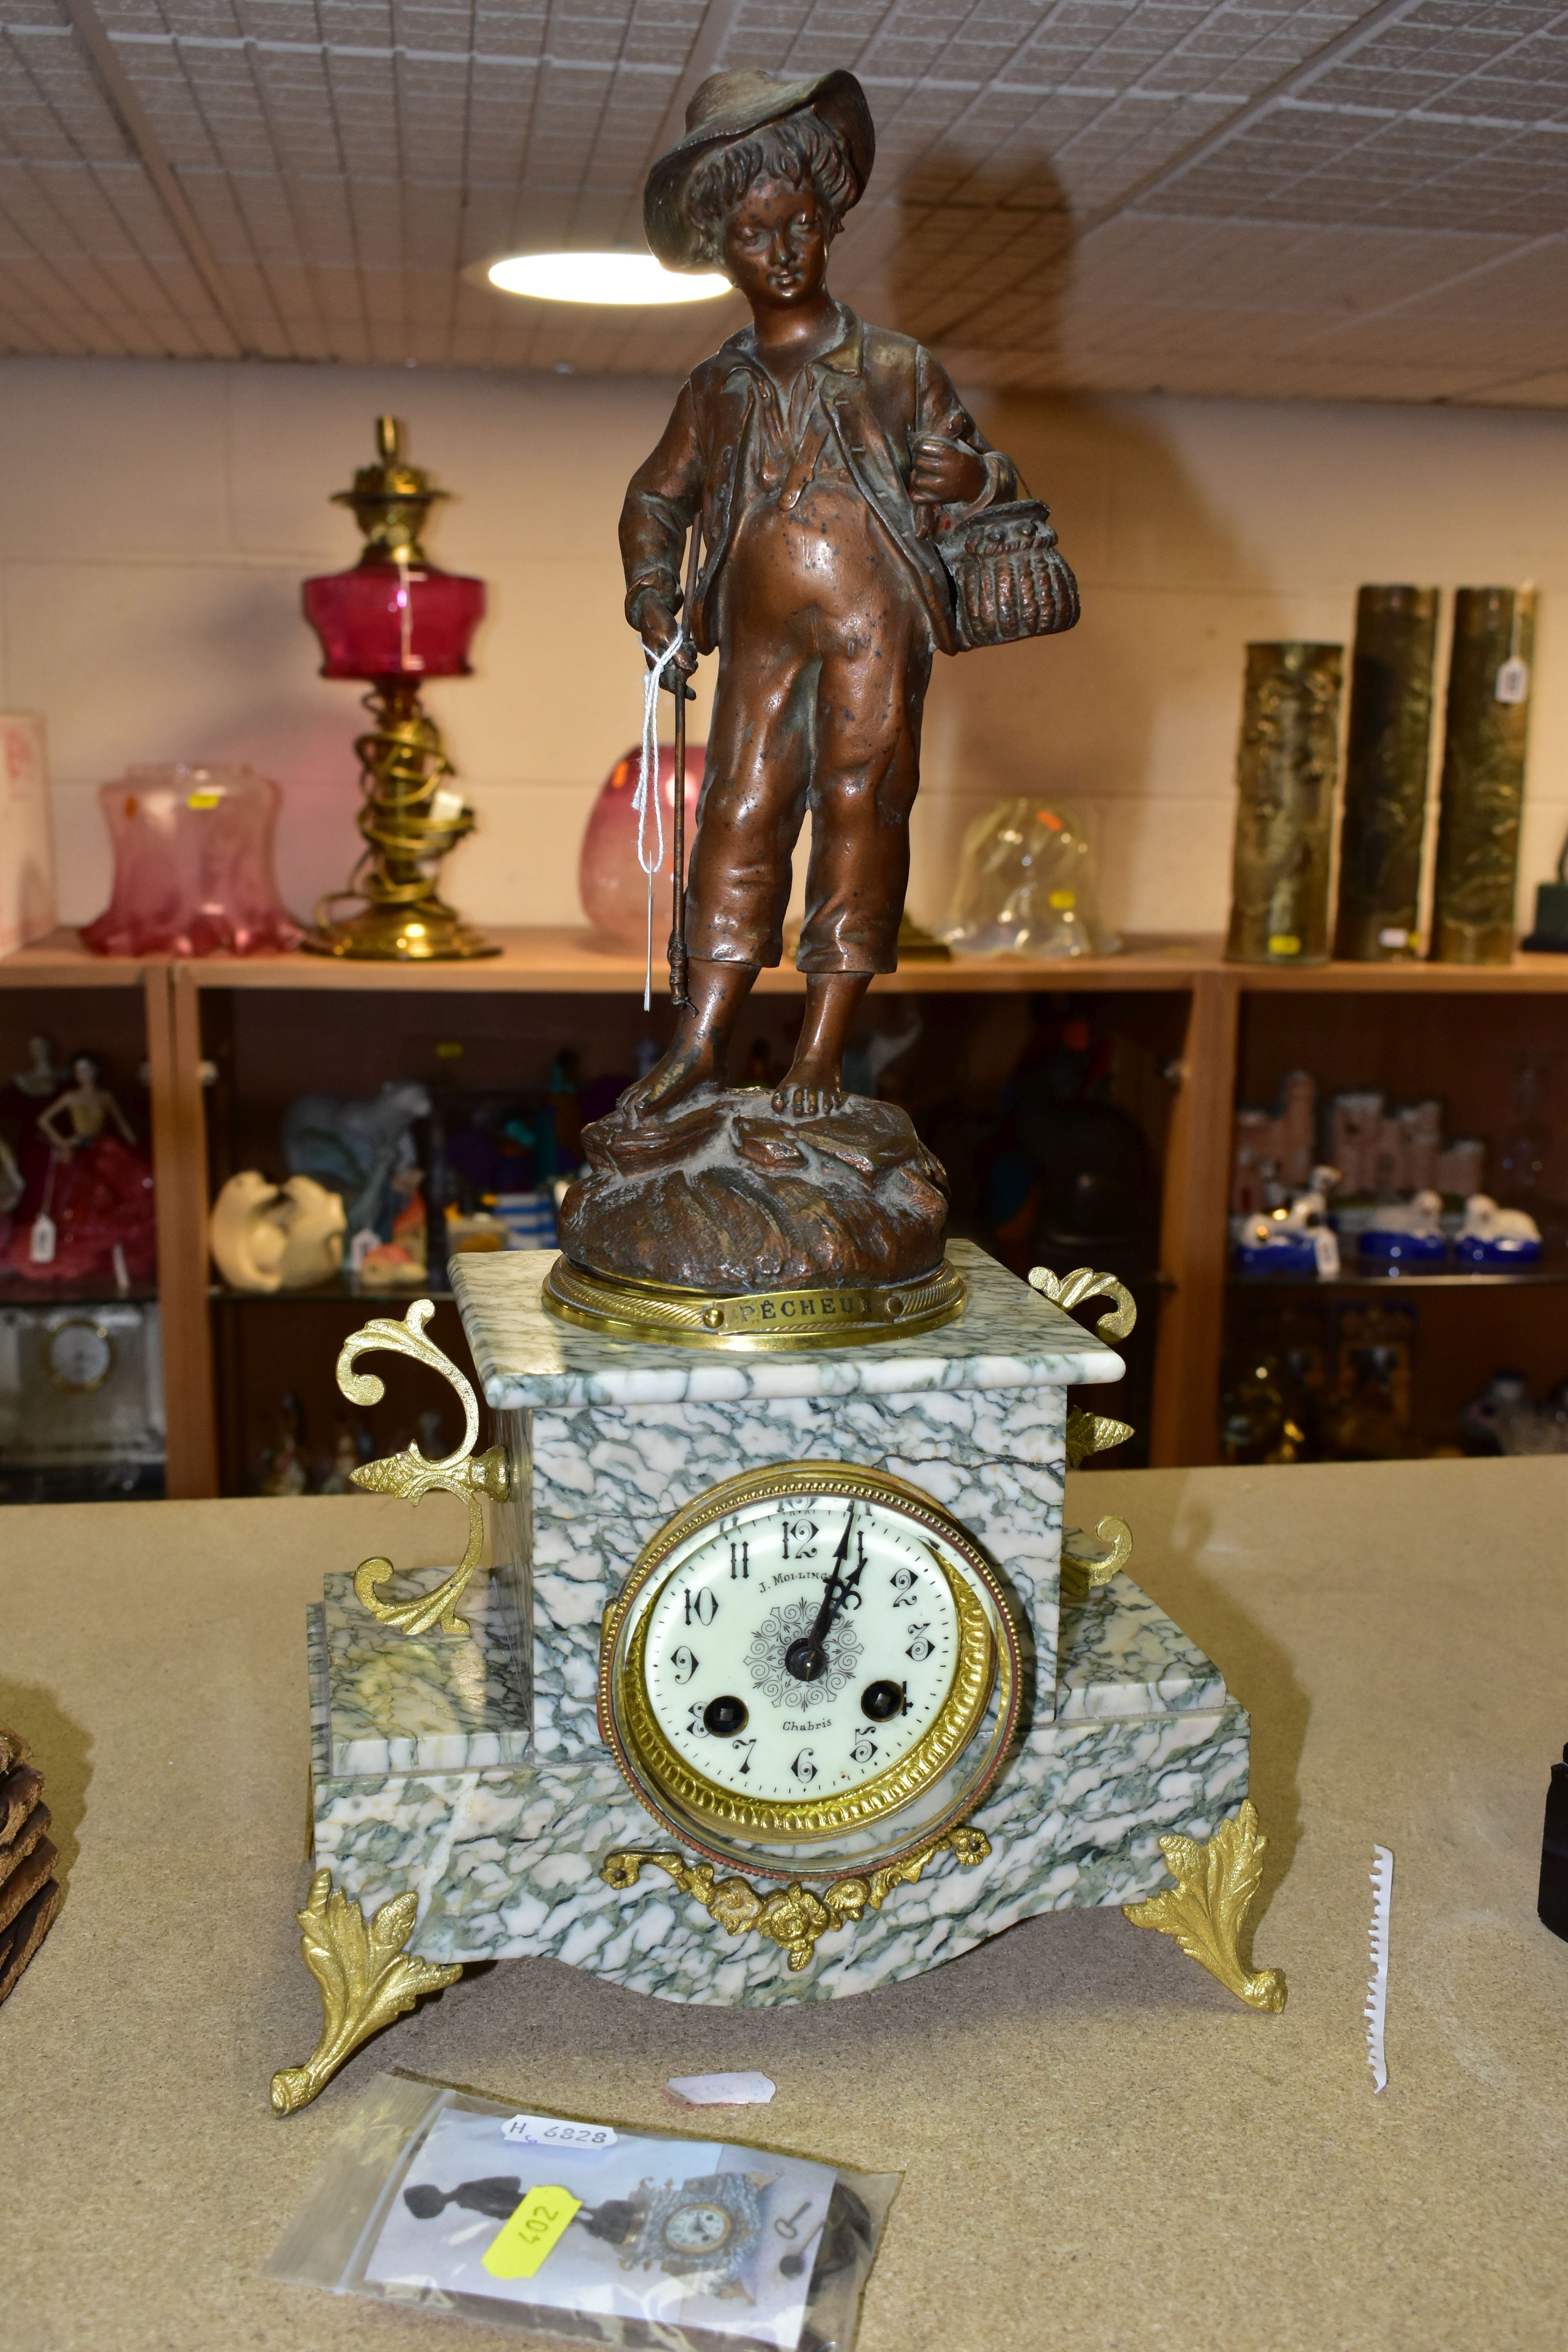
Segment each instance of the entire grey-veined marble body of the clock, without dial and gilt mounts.
[[[969,1305],[943,1331],[750,1359],[557,1322],[538,1303],[550,1256],[454,1268],[512,1472],[468,1639],[386,1635],[348,1576],[310,1613],[315,1858],[367,1907],[414,1889],[414,1952],[562,1959],[675,2002],[837,1999],[1034,1912],[1135,1903],[1166,1884],[1161,1835],[1206,1839],[1234,1813],[1248,1722],[1208,1658],[1126,1576],[1063,1602],[1067,1385],[1117,1381],[1110,1348],[971,1244],[950,1249]],[[614,1849],[670,1844],[599,1740],[604,1609],[665,1519],[780,1461],[865,1463],[931,1494],[990,1555],[1025,1639],[1018,1740],[971,1816],[990,1858],[938,1856],[799,1973],[661,1872],[599,1879]],[[788,1877],[748,1872],[769,1875]]]

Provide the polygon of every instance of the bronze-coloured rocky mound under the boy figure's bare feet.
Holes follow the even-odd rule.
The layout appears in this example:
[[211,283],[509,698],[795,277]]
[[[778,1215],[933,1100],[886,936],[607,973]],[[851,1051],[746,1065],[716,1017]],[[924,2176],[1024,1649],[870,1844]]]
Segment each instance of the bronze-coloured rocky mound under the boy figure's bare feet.
[[943,1261],[947,1176],[896,1103],[799,1120],[762,1087],[698,1087],[583,1129],[562,1204],[574,1265],[745,1294],[914,1282]]

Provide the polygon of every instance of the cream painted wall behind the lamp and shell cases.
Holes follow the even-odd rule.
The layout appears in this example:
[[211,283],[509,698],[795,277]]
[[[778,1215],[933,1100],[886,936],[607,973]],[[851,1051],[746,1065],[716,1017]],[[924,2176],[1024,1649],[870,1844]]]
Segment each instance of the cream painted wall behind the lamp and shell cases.
[[[49,727],[61,910],[108,887],[94,788],[132,760],[249,760],[287,793],[308,908],[353,863],[355,689],[315,675],[306,572],[353,562],[327,503],[371,419],[456,492],[430,532],[489,581],[477,673],[430,689],[480,833],[477,922],[574,922],[588,807],[639,727],[616,515],[670,386],[346,367],[0,362],[0,703]],[[997,793],[1081,809],[1128,929],[1218,929],[1248,637],[1347,640],[1361,581],[1542,588],[1521,920],[1568,826],[1568,419],[1201,400],[978,402],[1084,583],[1060,642],[938,661],[917,915]],[[705,663],[712,670],[712,663]],[[701,734],[701,706],[698,727]]]

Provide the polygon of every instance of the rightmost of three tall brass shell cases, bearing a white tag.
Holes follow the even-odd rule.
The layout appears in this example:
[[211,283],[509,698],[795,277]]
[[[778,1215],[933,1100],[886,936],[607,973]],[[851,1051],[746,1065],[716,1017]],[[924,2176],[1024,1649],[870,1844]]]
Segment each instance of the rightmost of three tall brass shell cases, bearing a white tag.
[[1514,957],[1530,691],[1516,703],[1497,701],[1497,670],[1509,656],[1535,663],[1535,590],[1460,588],[1436,826],[1434,964]]

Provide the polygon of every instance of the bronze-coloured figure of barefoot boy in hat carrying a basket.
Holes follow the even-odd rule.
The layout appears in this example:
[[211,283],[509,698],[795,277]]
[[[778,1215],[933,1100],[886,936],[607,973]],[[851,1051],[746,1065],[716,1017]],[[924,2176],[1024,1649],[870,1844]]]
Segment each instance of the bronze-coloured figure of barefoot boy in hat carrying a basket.
[[701,517],[684,619],[701,652],[719,652],[689,1002],[630,1112],[724,1080],[757,969],[783,953],[806,809],[806,1018],[773,1105],[820,1117],[842,1103],[856,1007],[875,971],[898,967],[931,654],[957,652],[936,532],[1018,496],[1011,459],[931,353],[827,292],[827,249],[872,153],[853,73],[738,71],[703,82],[686,136],[649,174],[654,254],[675,270],[717,263],[752,325],[693,372],[621,515],[625,614],[654,656],[679,635],[682,548]]

